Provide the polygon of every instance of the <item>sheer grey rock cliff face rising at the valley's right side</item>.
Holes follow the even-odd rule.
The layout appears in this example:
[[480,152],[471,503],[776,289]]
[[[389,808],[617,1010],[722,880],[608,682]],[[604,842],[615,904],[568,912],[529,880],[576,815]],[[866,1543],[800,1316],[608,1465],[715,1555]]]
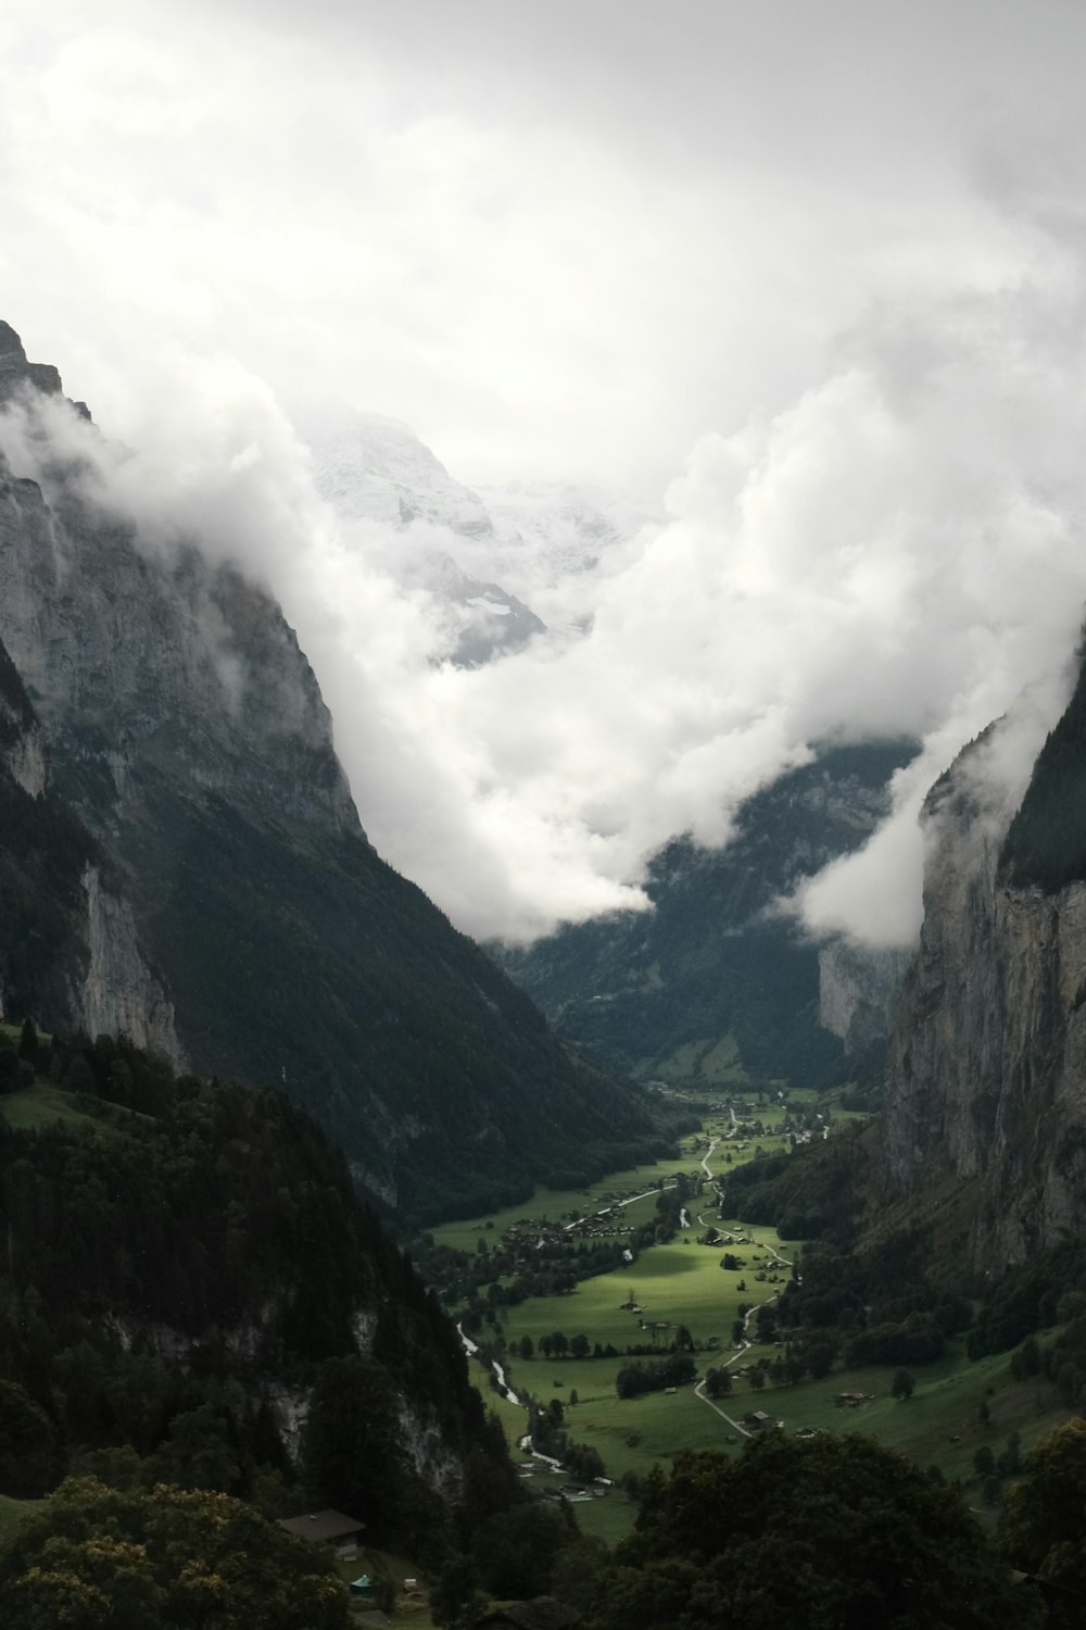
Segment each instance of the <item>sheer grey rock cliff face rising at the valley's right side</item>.
[[925,921],[882,1152],[897,1190],[974,1178],[972,1250],[998,1268],[1086,1227],[1086,882],[1013,880],[1023,789],[993,784],[992,748],[992,734],[967,748],[925,807]]

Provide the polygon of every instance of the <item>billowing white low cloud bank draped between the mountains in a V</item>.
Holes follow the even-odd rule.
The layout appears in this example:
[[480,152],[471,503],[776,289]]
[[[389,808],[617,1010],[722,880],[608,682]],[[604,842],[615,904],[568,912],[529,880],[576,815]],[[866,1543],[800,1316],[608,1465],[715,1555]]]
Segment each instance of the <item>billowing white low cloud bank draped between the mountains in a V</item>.
[[[900,945],[926,787],[1029,686],[988,755],[1021,795],[1066,694],[1086,298],[1075,251],[1049,248],[1044,279],[873,310],[791,408],[702,437],[666,523],[570,587],[583,637],[472,672],[435,660],[448,613],[394,579],[388,535],[337,523],[244,368],[190,363],[135,452],[55,404],[47,429],[148,548],[195,536],[272,585],[373,841],[469,932],[529,939],[643,905],[671,835],[725,843],[739,802],[812,743],[907,734],[923,750],[894,815],[796,901],[816,932]],[[24,414],[0,440],[34,466]]]

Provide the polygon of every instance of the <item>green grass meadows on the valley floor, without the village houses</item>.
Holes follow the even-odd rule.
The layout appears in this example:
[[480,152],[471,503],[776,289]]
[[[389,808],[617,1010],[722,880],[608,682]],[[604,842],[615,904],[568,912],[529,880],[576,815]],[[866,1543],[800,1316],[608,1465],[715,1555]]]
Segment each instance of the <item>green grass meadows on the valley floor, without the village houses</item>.
[[[736,1104],[741,1121],[762,1120],[767,1134],[757,1139],[738,1138],[728,1099]],[[835,1123],[856,1118],[837,1104],[822,1104],[812,1092],[791,1090],[788,1100],[793,1108],[799,1105],[814,1108],[819,1104]],[[554,1222],[573,1211],[589,1213],[619,1193],[643,1195],[624,1208],[624,1222],[627,1219],[635,1224],[645,1222],[655,1211],[655,1185],[661,1178],[671,1180],[676,1170],[687,1174],[702,1170],[700,1161],[707,1156],[710,1141],[716,1139],[716,1148],[707,1156],[708,1167],[716,1175],[726,1170],[728,1152],[733,1164],[752,1159],[755,1141],[767,1154],[775,1152],[786,1141],[769,1134],[770,1120],[777,1118],[772,1095],[757,1107],[754,1095],[747,1094],[746,1107],[739,1108],[739,1095],[734,1090],[725,1095],[721,1090],[720,1102],[713,1104],[705,1117],[702,1133],[684,1139],[679,1161],[612,1174],[589,1190],[567,1193],[541,1190],[532,1201],[505,1213],[435,1229],[435,1237],[461,1250],[474,1250],[480,1232],[493,1239],[506,1226],[524,1218],[547,1218]],[[698,1245],[697,1237],[705,1232],[698,1224],[698,1211],[721,1236],[742,1234],[749,1242]],[[778,1356],[775,1348],[751,1346],[739,1358],[731,1340],[733,1325],[741,1306],[751,1307],[770,1299],[785,1283],[790,1268],[782,1265],[775,1253],[791,1262],[803,1247],[782,1242],[772,1227],[747,1226],[742,1221],[720,1222],[710,1183],[705,1185],[703,1205],[694,1200],[689,1214],[690,1229],[668,1244],[643,1249],[630,1267],[585,1280],[567,1294],[531,1297],[498,1312],[497,1328],[511,1355],[505,1368],[513,1390],[528,1392],[542,1403],[558,1399],[570,1436],[599,1451],[606,1474],[614,1482],[630,1472],[643,1475],[653,1464],[666,1465],[682,1449],[713,1447],[738,1452],[742,1444],[742,1436],[695,1395],[694,1384],[682,1386],[674,1394],[617,1397],[615,1376],[630,1363],[625,1348],[637,1343],[651,1346],[653,1333],[642,1328],[642,1324],[685,1325],[697,1346],[694,1356],[698,1377],[726,1359],[734,1358],[742,1368],[755,1364],[760,1358]],[[742,1267],[721,1268],[725,1250],[733,1252]],[[765,1278],[757,1280],[757,1273],[765,1273]],[[777,1284],[772,1283],[773,1273],[778,1276]],[[739,1289],[741,1283],[744,1289]],[[630,1309],[630,1301],[637,1304],[637,1312]],[[554,1332],[562,1332],[568,1338],[585,1333],[591,1343],[612,1345],[622,1356],[545,1358],[539,1351],[539,1341]],[[523,1337],[531,1337],[534,1345],[529,1359],[523,1359],[516,1351]],[[669,1333],[659,1332],[658,1338],[663,1353]],[[488,1407],[501,1420],[510,1444],[516,1447],[524,1433],[524,1408],[510,1403],[495,1390],[485,1364],[472,1361],[472,1372]],[[861,1431],[910,1456],[923,1469],[938,1467],[948,1480],[961,1478],[966,1485],[975,1480],[972,1459],[982,1444],[998,1456],[1009,1433],[1016,1431],[1026,1452],[1042,1433],[1068,1415],[1057,1403],[1053,1389],[1044,1377],[1014,1382],[1009,1374],[1009,1353],[970,1361],[966,1356],[964,1340],[951,1341],[941,1359],[918,1364],[912,1374],[915,1392],[904,1402],[891,1397],[894,1366],[865,1366],[837,1368],[822,1381],[808,1379],[796,1386],[775,1387],[767,1381],[760,1390],[744,1377],[736,1377],[731,1394],[720,1399],[718,1405],[736,1421],[749,1410],[765,1410],[780,1420],[788,1433],[801,1428],[830,1433]],[[865,1402],[856,1407],[837,1405],[834,1400],[843,1392],[863,1394]],[[987,1410],[982,1410],[982,1405]],[[536,1472],[536,1478],[541,1487],[560,1488],[568,1482],[562,1474],[544,1469]],[[576,1514],[585,1532],[614,1542],[630,1529],[637,1508],[619,1490],[612,1490],[602,1500],[578,1503]]]

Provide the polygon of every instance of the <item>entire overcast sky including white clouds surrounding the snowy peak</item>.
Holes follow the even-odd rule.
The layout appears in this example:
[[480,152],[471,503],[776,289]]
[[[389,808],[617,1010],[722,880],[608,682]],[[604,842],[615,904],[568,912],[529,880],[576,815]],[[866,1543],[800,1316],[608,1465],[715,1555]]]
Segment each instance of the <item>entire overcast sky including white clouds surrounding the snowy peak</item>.
[[[925,778],[1032,683],[1021,769],[1081,618],[1084,64],[1076,0],[5,0],[0,316],[145,448],[134,505],[215,531],[239,486],[217,546],[461,926],[637,898],[811,740],[907,729],[897,822],[804,901],[900,942]],[[669,523],[575,649],[435,670],[303,396]]]

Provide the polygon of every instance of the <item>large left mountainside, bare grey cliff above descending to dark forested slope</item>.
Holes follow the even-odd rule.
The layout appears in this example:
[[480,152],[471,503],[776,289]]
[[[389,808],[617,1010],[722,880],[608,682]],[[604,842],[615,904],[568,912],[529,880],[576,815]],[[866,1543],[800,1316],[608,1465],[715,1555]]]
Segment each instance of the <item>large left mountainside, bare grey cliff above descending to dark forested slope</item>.
[[[33,367],[20,385],[7,357],[47,437]],[[653,1138],[637,1097],[570,1056],[366,843],[274,600],[199,540],[147,544],[50,455],[47,491],[0,471],[0,637],[192,1063],[285,1079],[357,1177],[414,1218],[619,1164]]]

